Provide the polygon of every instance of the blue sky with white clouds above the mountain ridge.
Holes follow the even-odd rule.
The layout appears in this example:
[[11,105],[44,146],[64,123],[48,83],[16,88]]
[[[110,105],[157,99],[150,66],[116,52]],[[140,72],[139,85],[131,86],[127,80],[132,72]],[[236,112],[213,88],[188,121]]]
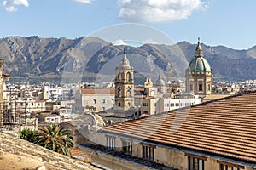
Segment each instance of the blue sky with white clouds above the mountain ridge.
[[[200,37],[202,43],[210,46],[247,49],[256,45],[256,1],[253,0],[1,1],[0,37],[73,39],[108,31],[106,28],[117,29],[120,25],[124,29],[130,23],[148,26],[172,42],[196,43]],[[147,41],[150,39],[144,42]]]

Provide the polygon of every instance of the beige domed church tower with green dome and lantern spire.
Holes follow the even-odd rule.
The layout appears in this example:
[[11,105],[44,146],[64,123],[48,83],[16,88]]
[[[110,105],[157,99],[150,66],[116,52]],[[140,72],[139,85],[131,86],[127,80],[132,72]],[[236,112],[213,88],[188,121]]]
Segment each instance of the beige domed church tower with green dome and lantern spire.
[[186,91],[201,97],[212,94],[212,68],[203,57],[199,41],[195,48],[195,57],[186,70]]

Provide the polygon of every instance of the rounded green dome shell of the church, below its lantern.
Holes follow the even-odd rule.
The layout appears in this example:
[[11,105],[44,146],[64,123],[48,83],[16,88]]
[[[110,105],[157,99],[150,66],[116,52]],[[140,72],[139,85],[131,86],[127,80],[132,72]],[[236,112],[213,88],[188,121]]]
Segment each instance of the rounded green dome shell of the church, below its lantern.
[[207,62],[207,59],[204,59],[203,57],[195,57],[189,63],[189,71],[212,71],[212,68]]

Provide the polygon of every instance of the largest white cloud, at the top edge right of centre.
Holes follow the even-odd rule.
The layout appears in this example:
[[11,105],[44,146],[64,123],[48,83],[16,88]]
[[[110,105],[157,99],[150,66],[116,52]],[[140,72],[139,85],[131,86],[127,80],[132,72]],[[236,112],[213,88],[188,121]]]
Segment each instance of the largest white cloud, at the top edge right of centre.
[[207,8],[202,0],[118,0],[119,17],[132,21],[166,22],[188,18]]

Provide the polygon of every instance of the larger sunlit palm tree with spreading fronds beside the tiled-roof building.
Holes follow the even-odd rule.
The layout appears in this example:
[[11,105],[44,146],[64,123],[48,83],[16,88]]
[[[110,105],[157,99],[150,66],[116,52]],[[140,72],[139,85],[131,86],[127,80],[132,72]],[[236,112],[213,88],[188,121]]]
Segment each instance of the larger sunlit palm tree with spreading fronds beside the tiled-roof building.
[[59,125],[51,124],[49,127],[40,129],[38,133],[38,144],[60,154],[71,156],[70,147],[73,147],[71,134]]

